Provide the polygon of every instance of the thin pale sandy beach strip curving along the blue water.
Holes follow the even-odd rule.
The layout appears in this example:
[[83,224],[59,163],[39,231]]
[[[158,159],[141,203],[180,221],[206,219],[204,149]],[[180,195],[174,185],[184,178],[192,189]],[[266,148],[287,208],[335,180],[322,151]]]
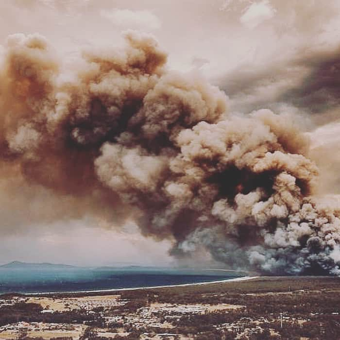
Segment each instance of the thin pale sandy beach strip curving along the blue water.
[[51,291],[51,292],[37,292],[37,293],[20,293],[25,296],[36,296],[36,295],[56,295],[56,294],[84,294],[84,293],[110,293],[114,291],[127,291],[127,290],[140,290],[140,289],[160,289],[160,288],[171,288],[171,287],[188,287],[188,286],[200,286],[209,285],[216,283],[226,282],[238,282],[248,281],[259,278],[260,276],[241,276],[234,277],[231,279],[217,280],[217,281],[206,281],[206,282],[194,282],[194,283],[182,283],[178,285],[165,285],[165,286],[150,286],[150,287],[134,287],[134,288],[112,288],[112,289],[92,289],[92,290],[76,290],[76,291]]

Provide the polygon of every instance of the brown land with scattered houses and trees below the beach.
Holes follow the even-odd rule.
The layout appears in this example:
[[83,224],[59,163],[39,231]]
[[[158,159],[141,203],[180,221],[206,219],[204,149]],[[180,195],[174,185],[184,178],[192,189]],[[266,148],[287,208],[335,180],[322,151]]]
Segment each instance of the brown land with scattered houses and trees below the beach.
[[340,279],[0,296],[0,339],[340,339]]

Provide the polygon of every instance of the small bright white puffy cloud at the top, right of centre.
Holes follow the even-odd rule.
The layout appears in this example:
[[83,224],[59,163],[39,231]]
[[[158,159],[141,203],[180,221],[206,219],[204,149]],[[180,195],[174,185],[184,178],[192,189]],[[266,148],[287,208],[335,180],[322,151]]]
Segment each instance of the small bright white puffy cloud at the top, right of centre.
[[248,27],[255,28],[263,21],[271,19],[275,15],[275,10],[272,8],[268,0],[254,2],[246,12],[240,17],[240,22]]

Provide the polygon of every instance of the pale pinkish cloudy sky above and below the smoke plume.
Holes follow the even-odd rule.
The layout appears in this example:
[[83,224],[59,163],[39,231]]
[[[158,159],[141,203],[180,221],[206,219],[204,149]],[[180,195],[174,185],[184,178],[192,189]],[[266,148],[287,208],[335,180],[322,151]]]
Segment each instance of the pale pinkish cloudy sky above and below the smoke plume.
[[[293,113],[311,137],[311,157],[325,157],[318,164],[324,191],[340,194],[340,1],[2,0],[0,13],[0,54],[9,34],[39,33],[66,65],[83,50],[121,45],[122,31],[153,34],[169,55],[167,67],[219,86],[231,113]],[[178,264],[171,239],[144,237],[133,221],[119,228],[87,217],[18,226],[21,212],[6,204],[4,219],[14,218],[1,236],[1,263]]]

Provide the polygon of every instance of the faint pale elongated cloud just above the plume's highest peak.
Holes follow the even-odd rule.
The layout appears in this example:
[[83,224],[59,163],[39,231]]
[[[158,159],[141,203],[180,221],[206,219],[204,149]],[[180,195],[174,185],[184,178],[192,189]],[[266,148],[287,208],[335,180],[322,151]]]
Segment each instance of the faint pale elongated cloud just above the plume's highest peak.
[[162,26],[160,19],[148,10],[132,11],[115,8],[112,11],[102,10],[100,13],[114,25],[124,28],[157,30]]

